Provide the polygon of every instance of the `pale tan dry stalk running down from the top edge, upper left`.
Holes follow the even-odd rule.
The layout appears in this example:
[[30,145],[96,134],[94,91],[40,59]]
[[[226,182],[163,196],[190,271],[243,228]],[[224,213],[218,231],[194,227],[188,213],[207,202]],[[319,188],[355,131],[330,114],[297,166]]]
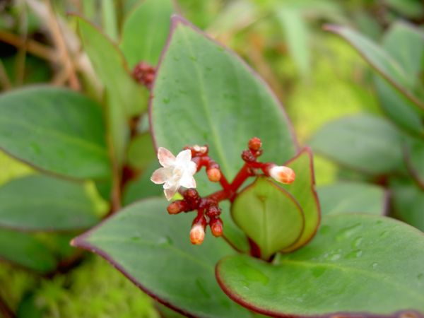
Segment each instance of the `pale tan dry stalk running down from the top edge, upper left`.
[[68,74],[69,86],[71,86],[73,90],[79,90],[81,88],[81,85],[78,81],[76,69],[75,69],[75,66],[73,65],[73,61],[71,57],[69,56],[68,48],[66,47],[66,42],[61,33],[60,25],[59,25],[59,22],[57,21],[57,17],[54,14],[52,4],[50,3],[49,0],[45,0],[45,6],[49,12],[49,17],[48,17],[49,30],[52,34],[54,45],[56,45],[57,50],[59,51],[59,57],[61,58],[64,64],[64,67],[66,69],[66,72]]

